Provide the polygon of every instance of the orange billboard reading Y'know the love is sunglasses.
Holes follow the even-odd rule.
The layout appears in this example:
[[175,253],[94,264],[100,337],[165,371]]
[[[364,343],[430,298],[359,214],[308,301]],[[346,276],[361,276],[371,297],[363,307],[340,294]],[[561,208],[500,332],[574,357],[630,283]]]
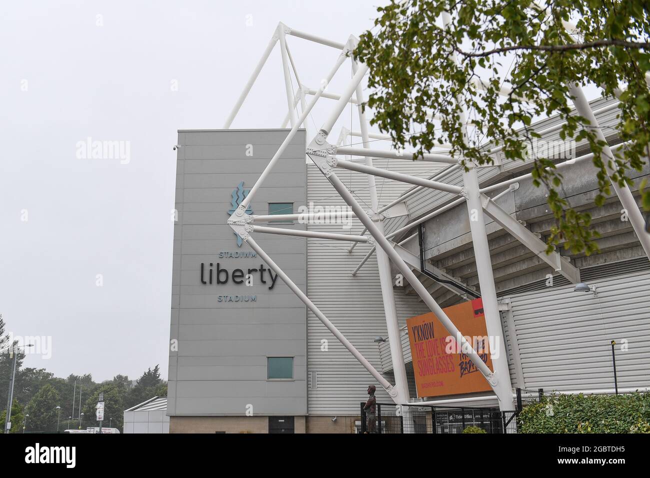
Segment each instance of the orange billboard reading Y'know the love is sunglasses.
[[[482,299],[443,309],[465,339],[492,369]],[[460,344],[433,312],[406,319],[418,397],[492,390]]]

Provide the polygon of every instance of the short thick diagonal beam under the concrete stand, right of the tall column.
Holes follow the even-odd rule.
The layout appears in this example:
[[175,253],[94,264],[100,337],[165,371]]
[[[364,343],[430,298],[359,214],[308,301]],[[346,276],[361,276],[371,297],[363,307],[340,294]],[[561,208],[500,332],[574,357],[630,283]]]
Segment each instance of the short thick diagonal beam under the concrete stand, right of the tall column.
[[[509,190],[506,189],[506,192]],[[494,200],[485,194],[481,194],[482,207],[485,213],[495,220],[499,226],[508,231],[517,241],[530,249],[538,258],[550,265],[554,271],[560,272],[571,284],[580,282],[580,271],[573,267],[569,261],[562,258],[558,252],[546,254],[546,243],[539,239],[534,233],[526,229],[520,222],[513,219],[510,214],[497,206]]]

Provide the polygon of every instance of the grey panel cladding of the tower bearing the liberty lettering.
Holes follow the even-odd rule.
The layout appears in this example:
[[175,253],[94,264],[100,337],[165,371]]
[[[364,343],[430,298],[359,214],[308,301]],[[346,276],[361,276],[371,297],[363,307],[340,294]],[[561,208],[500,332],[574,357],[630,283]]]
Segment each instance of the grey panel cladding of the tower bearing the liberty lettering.
[[[305,306],[250,247],[237,245],[226,224],[233,191],[237,199],[242,181],[244,189],[253,187],[288,132],[178,133],[169,415],[245,415],[249,406],[255,415],[307,413]],[[300,130],[253,198],[253,213],[268,214],[269,202],[303,206],[305,173]],[[255,241],[306,289],[304,239],[255,233]],[[234,282],[241,280],[237,269],[250,274],[252,285]],[[266,380],[267,356],[294,357],[293,379]]]

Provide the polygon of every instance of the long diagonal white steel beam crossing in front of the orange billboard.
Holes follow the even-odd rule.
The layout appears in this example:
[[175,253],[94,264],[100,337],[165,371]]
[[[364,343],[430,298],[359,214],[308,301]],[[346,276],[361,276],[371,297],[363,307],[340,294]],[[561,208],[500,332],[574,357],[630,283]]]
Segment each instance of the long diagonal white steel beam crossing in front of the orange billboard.
[[[380,248],[383,249],[383,251],[387,254],[389,259],[395,264],[397,269],[402,272],[402,275],[406,279],[406,281],[411,284],[411,287],[413,287],[413,290],[419,295],[422,299],[422,302],[428,306],[428,308],[435,314],[435,317],[440,321],[440,323],[445,327],[445,330],[447,330],[448,334],[450,336],[454,337],[458,344],[461,347],[461,350],[467,356],[469,359],[472,361],[472,363],[476,366],[478,370],[486,377],[487,381],[489,384],[492,386],[493,390],[495,390],[495,393],[497,393],[497,390],[500,390],[499,384],[502,382],[503,377],[500,377],[497,375],[497,373],[492,373],[492,371],[489,369],[487,364],[483,362],[483,360],[480,358],[480,356],[474,351],[472,345],[463,337],[463,334],[461,334],[460,330],[456,328],[454,323],[449,319],[447,314],[445,313],[444,310],[435,302],[434,298],[431,297],[430,293],[426,290],[426,287],[422,285],[422,283],[417,280],[417,277],[415,274],[413,274],[413,271],[411,271],[411,268],[404,262],[402,258],[400,258],[399,254],[395,251],[393,246],[391,245],[391,242],[383,237],[383,235],[380,233],[380,231],[377,229],[375,226],[374,222],[370,217],[365,215],[363,208],[359,205],[359,203],[354,199],[354,196],[352,196],[352,193],[348,191],[348,189],[345,187],[343,182],[341,182],[341,179],[336,176],[331,171],[331,167],[327,163],[327,159],[325,157],[318,157],[318,156],[313,156],[312,157],[315,165],[318,166],[320,171],[324,174],[326,178],[329,179],[331,185],[333,185],[334,189],[336,189],[337,193],[343,198],[343,200],[350,206],[352,207],[352,210],[356,213],[357,217],[361,220],[364,226],[368,228],[368,232],[374,237],[374,240],[376,241],[376,245],[379,246]],[[489,330],[488,330],[489,333]],[[500,335],[499,335],[500,336]],[[504,357],[505,360],[505,357]],[[493,362],[494,363],[494,362]],[[506,373],[508,373],[506,369]],[[510,386],[510,377],[506,377],[508,387]],[[511,401],[512,401],[512,391],[509,391],[511,396]],[[499,396],[499,393],[497,393],[497,396]],[[511,403],[512,406],[512,403]],[[512,410],[512,408],[510,408]]]

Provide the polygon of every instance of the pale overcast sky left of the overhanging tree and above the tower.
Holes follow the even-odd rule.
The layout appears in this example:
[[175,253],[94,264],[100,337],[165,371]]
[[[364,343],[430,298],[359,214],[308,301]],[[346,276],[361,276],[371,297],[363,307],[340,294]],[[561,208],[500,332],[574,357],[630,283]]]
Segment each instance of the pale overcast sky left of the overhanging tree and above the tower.
[[[160,364],[166,378],[177,129],[223,126],[278,21],[345,42],[380,3],[0,4],[0,313],[15,336],[51,337],[26,366],[101,381]],[[287,42],[318,88],[337,51]],[[276,47],[233,127],[281,126],[281,74]],[[80,158],[89,137],[128,158]]]

